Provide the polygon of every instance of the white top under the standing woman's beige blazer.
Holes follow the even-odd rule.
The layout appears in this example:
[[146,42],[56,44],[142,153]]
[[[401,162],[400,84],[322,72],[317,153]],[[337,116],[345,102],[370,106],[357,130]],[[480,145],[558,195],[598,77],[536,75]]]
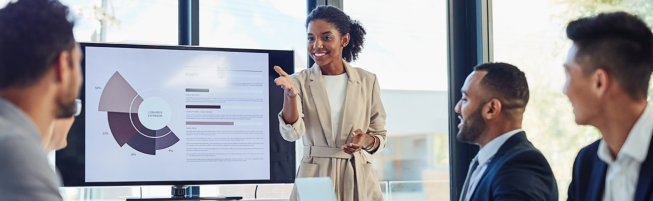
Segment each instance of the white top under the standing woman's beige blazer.
[[349,76],[347,73],[339,74],[337,76],[322,75],[325,80],[325,87],[327,87],[328,102],[331,106],[331,126],[333,127],[333,140],[336,142],[338,136],[338,125],[340,124],[340,112],[342,112],[342,104],[345,102],[345,95],[347,94],[347,80]]

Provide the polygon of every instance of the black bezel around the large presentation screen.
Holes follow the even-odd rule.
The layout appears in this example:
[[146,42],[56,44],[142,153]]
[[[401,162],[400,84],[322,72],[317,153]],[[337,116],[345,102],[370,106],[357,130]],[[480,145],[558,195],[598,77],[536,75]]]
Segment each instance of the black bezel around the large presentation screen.
[[[256,50],[239,48],[213,48],[201,46],[170,46],[153,44],[123,44],[108,42],[78,42],[82,54],[86,47],[108,48],[145,48],[158,50],[200,50],[221,52],[257,52],[269,54],[269,67],[278,65],[285,72],[295,72],[294,50]],[[283,57],[283,58],[278,58]],[[82,74],[86,80],[86,57],[82,57]],[[270,179],[268,180],[208,180],[208,181],[122,181],[122,182],[86,182],[85,180],[85,129],[86,107],[82,106],[82,114],[76,117],[68,136],[68,146],[56,151],[56,166],[63,180],[64,187],[101,187],[125,185],[216,185],[216,184],[256,184],[256,183],[294,183],[295,182],[295,142],[288,142],[279,133],[278,113],[283,108],[283,89],[274,84],[278,78],[274,70],[268,74],[270,90]],[[86,102],[86,82],[82,84],[80,99]],[[273,168],[275,171],[273,172]],[[216,168],[216,170],[219,170]],[[183,174],[183,172],[180,172]]]

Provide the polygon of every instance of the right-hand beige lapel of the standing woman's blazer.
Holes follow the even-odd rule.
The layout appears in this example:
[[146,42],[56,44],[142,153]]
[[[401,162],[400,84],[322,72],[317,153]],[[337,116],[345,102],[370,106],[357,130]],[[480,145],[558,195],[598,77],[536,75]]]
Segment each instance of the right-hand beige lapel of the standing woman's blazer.
[[[356,72],[354,68],[345,61],[345,59],[342,59],[342,63],[345,66],[345,71],[347,72],[347,76],[349,76],[349,80],[347,81],[345,101],[342,103],[342,112],[340,112],[340,125],[338,125],[340,132],[336,135],[340,136],[338,138],[338,146],[346,144],[347,138],[350,136],[349,132],[355,130],[353,125],[358,113],[358,100],[360,99],[360,83],[358,83],[360,77],[358,76],[358,72]],[[362,131],[367,132],[366,130]]]

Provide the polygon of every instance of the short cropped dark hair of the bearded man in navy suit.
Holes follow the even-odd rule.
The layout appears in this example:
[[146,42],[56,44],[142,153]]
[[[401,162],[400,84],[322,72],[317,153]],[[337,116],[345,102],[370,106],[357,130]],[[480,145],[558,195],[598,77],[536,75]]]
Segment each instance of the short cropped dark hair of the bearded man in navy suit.
[[529,92],[524,72],[507,63],[483,63],[474,70],[487,72],[481,79],[486,101],[497,98],[502,108],[526,108]]

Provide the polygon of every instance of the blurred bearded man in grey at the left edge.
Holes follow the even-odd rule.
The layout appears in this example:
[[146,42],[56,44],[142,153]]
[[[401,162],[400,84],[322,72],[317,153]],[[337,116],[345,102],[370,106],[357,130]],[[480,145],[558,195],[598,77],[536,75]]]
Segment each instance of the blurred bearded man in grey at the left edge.
[[80,93],[80,49],[69,9],[20,0],[0,10],[0,200],[61,200],[44,149],[52,123],[71,117]]

